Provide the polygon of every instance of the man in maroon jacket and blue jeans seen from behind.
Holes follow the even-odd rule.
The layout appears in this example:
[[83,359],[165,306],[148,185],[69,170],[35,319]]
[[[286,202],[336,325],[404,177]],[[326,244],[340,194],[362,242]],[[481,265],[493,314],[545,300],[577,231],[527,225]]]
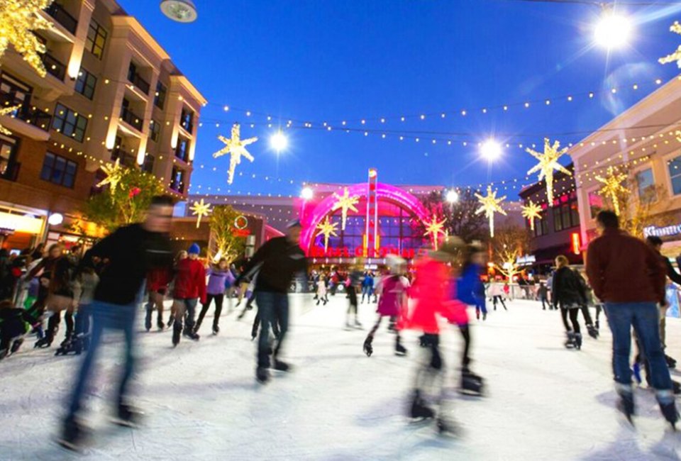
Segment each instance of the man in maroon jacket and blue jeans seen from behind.
[[631,389],[631,328],[650,365],[650,384],[665,419],[675,426],[679,415],[672,393],[660,341],[658,301],[665,296],[665,267],[642,240],[619,229],[612,211],[596,218],[601,236],[589,244],[587,276],[594,295],[604,301],[612,331],[612,364],[619,409],[631,421],[634,414]]

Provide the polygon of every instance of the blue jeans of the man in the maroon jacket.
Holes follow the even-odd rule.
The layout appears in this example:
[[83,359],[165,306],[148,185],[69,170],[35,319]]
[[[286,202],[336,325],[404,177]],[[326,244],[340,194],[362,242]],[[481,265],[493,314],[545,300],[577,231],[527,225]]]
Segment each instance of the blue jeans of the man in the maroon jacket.
[[653,302],[605,303],[605,312],[612,331],[612,367],[615,381],[631,385],[631,327],[641,343],[643,355],[650,364],[650,384],[658,390],[672,389],[667,362],[660,340],[657,304]]

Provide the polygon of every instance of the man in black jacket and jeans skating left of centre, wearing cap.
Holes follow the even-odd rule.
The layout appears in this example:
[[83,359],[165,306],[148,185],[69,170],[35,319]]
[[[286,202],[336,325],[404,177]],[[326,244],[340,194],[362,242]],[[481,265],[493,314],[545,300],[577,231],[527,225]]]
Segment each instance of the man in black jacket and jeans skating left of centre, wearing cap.
[[[260,313],[260,338],[258,338],[258,368],[255,377],[258,382],[265,383],[270,379],[270,355],[273,355],[275,370],[282,372],[289,370],[289,365],[282,362],[279,352],[282,350],[284,339],[289,328],[289,297],[288,291],[293,277],[298,272],[307,272],[307,260],[301,250],[300,223],[294,221],[289,224],[287,235],[272,238],[243,268],[242,275],[258,270],[255,282],[255,302],[258,303]],[[236,281],[236,284],[240,280]],[[270,325],[279,324],[279,340],[272,354],[270,345]]]

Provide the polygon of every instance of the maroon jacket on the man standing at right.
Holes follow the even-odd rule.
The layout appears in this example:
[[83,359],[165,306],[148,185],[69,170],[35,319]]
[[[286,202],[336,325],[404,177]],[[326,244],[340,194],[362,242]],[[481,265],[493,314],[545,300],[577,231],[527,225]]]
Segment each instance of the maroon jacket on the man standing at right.
[[666,271],[660,257],[619,229],[606,229],[589,244],[587,276],[604,302],[657,303],[665,297]]

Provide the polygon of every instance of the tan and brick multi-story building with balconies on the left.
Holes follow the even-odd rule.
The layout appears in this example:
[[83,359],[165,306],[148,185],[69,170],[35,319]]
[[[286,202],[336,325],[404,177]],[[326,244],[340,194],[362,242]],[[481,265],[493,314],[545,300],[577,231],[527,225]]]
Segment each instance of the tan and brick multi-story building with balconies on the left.
[[36,32],[47,75],[13,50],[0,60],[0,104],[19,106],[0,117],[12,132],[0,135],[0,243],[13,249],[69,238],[106,162],[137,163],[184,198],[206,104],[116,1],[57,0],[42,14],[54,24]]

